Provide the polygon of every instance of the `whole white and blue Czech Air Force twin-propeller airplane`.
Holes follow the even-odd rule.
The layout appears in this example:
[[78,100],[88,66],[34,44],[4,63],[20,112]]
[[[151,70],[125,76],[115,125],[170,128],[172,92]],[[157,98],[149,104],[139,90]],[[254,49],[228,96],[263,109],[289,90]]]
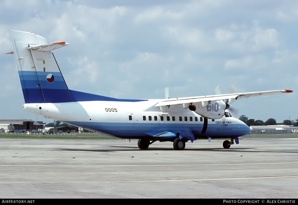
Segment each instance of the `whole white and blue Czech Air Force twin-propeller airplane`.
[[250,128],[229,113],[229,104],[241,98],[280,93],[274,90],[131,100],[105,97],[70,90],[63,78],[53,50],[68,45],[65,41],[48,43],[32,32],[11,30],[13,54],[21,81],[26,111],[66,122],[97,133],[122,139],[138,139],[147,149],[153,142],[173,142],[174,150],[196,139],[230,139],[228,149],[239,144],[239,137]]

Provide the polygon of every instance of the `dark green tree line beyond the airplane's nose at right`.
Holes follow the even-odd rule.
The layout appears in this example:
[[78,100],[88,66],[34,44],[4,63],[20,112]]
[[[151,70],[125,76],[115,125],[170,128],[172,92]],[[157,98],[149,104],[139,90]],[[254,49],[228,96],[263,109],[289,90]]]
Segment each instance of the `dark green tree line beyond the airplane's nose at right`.
[[269,118],[266,122],[263,122],[263,120],[257,119],[248,119],[245,115],[241,115],[239,119],[244,122],[247,126],[254,126],[254,125],[293,125],[294,127],[298,127],[298,122],[295,122],[294,120],[288,120],[285,119],[282,123],[277,123],[275,119]]

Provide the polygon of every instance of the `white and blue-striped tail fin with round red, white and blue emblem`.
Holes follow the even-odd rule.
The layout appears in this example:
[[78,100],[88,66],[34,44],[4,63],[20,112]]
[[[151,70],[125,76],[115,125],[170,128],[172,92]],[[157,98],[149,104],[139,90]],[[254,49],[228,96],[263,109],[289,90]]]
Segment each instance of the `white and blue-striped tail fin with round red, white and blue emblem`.
[[11,31],[11,36],[25,103],[53,102],[69,93],[52,54],[67,43],[48,44],[44,37],[22,31]]

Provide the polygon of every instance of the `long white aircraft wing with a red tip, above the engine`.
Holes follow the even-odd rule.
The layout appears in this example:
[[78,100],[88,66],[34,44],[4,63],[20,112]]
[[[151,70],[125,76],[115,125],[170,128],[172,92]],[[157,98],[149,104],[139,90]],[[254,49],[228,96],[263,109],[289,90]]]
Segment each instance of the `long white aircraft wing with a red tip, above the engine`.
[[223,94],[223,95],[205,95],[198,97],[185,97],[185,98],[172,98],[165,99],[161,102],[158,102],[157,106],[167,106],[167,105],[178,105],[178,104],[187,104],[194,102],[202,102],[203,107],[205,107],[210,102],[215,102],[217,100],[229,100],[233,102],[234,100],[239,100],[241,98],[248,98],[253,96],[262,96],[262,95],[273,95],[280,93],[291,93],[291,90],[273,90],[273,91],[261,91],[261,92],[248,92],[248,93],[234,93],[234,94]]

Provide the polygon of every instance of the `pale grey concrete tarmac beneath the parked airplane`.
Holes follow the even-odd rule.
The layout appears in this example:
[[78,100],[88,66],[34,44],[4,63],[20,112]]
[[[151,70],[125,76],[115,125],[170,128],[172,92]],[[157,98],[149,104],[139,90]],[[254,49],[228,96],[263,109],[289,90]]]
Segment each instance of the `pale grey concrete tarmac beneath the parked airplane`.
[[298,138],[0,139],[0,198],[298,198]]

